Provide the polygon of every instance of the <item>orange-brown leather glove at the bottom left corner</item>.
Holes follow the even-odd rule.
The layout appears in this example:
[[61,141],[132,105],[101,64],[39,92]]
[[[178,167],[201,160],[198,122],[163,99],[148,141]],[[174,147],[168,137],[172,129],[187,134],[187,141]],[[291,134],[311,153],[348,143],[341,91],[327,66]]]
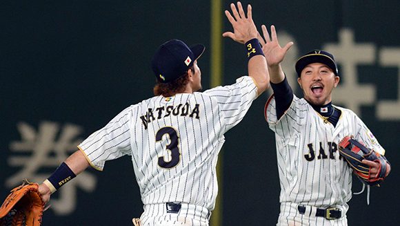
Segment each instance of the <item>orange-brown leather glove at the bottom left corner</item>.
[[41,199],[37,183],[23,180],[23,184],[11,190],[0,207],[0,226],[41,225],[45,203]]

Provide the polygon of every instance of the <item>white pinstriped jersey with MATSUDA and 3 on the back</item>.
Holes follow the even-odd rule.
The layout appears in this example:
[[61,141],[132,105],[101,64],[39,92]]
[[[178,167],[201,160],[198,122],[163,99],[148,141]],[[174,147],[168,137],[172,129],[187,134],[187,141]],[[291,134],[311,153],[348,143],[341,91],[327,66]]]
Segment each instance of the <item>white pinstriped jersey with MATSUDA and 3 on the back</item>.
[[81,144],[90,164],[132,156],[144,205],[183,202],[214,209],[223,134],[257,97],[253,79],[203,93],[156,96],[123,110]]

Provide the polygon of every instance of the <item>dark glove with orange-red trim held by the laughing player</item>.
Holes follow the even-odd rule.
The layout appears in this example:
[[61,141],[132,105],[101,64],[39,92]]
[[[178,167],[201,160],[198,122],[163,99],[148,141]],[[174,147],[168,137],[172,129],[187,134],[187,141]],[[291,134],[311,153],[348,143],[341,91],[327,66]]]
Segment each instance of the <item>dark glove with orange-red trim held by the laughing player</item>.
[[[374,150],[368,149],[361,142],[354,140],[352,136],[346,136],[339,143],[339,153],[353,169],[354,174],[366,185],[379,185],[386,178],[388,160],[385,156]],[[370,167],[362,160],[370,160],[379,164],[377,176],[371,178]]]

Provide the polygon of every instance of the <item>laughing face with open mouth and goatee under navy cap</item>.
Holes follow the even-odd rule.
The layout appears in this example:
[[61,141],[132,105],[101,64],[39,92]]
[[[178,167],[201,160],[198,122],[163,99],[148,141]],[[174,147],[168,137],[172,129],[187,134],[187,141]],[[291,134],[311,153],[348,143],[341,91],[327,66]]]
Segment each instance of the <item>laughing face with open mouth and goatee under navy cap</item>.
[[297,79],[304,98],[314,105],[324,105],[332,101],[332,89],[339,84],[339,76],[331,68],[321,63],[308,64]]

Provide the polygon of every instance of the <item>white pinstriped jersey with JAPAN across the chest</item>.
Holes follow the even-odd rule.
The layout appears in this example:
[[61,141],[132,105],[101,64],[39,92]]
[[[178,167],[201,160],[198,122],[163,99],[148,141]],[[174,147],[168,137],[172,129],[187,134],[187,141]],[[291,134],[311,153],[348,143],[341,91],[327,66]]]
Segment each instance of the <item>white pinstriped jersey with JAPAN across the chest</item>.
[[[323,122],[306,100],[295,95],[290,108],[277,120],[274,101],[274,97],[270,97],[265,114],[275,133],[280,202],[323,208],[346,207],[352,197],[352,171],[346,161],[339,158],[337,144],[346,135],[354,135],[379,153],[384,153],[384,149],[359,117],[348,109],[334,106],[341,111],[334,127]],[[279,222],[283,216],[288,220],[298,218],[296,209],[289,209],[281,205]],[[322,225],[312,222],[314,219],[307,219],[303,224]]]

